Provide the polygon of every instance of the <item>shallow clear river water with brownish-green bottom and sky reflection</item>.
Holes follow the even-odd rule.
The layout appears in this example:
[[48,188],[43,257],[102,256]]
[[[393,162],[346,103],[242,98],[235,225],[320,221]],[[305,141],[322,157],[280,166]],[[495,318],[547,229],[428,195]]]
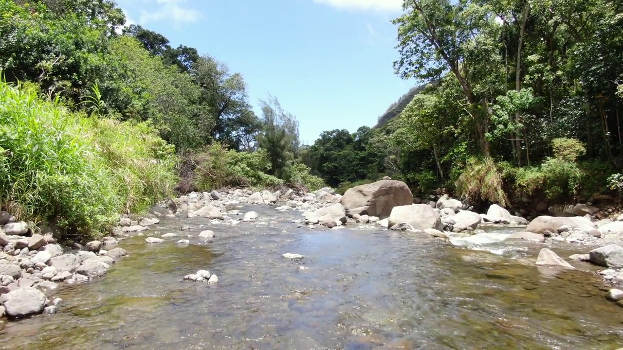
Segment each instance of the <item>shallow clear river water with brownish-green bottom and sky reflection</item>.
[[[604,298],[601,278],[535,267],[538,245],[452,247],[372,225],[297,229],[299,212],[240,209],[260,218],[234,228],[166,219],[145,234],[193,235],[188,246],[175,243],[186,237],[154,245],[145,237],[124,240],[128,257],[98,280],[61,286],[52,295],[64,300],[57,315],[8,323],[0,349],[623,346],[623,309]],[[185,224],[195,229],[181,231]],[[216,232],[214,242],[197,243],[201,224]],[[283,253],[305,258],[290,261]],[[199,269],[219,282],[183,281]]]

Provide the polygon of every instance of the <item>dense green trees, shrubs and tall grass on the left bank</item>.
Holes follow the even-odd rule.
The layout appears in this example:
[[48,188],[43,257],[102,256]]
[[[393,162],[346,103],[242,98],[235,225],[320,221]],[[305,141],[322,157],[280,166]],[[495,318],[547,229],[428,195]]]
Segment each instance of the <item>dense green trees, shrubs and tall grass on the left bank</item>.
[[[323,186],[298,121],[240,73],[124,27],[112,0],[0,0],[0,209],[105,232],[178,191]],[[181,181],[179,181],[181,179]]]

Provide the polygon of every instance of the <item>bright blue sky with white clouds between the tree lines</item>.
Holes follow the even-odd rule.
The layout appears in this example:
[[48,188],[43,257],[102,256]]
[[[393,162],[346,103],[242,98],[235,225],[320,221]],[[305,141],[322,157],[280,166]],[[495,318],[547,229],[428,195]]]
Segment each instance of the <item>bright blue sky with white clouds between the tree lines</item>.
[[[129,24],[195,47],[269,94],[311,144],[324,130],[373,126],[414,80],[394,75],[402,0],[117,0]],[[255,107],[256,113],[259,112]]]

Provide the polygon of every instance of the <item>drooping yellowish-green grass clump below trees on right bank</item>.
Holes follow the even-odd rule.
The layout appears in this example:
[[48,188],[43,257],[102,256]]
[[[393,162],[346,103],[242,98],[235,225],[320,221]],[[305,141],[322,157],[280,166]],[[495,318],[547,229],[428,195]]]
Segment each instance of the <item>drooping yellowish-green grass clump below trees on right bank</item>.
[[469,159],[456,181],[456,189],[460,196],[465,196],[470,201],[489,201],[500,206],[509,204],[503,190],[502,174],[491,158]]

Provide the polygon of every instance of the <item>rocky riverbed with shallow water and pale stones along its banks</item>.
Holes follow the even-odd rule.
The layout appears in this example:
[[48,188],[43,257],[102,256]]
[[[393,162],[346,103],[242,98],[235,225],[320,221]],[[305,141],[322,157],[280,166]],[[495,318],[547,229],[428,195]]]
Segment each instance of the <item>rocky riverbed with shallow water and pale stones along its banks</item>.
[[[498,207],[474,224],[459,201],[412,207],[384,186],[346,200],[330,189],[188,194],[71,250],[45,232],[39,247],[22,247],[38,235],[7,235],[0,267],[21,275],[5,266],[3,300],[26,293],[12,295],[37,301],[22,316],[55,315],[3,322],[0,348],[621,347],[623,293],[611,284],[623,278],[595,264],[619,262],[618,248],[589,254],[614,234],[527,234]],[[574,231],[596,240],[568,240]]]

